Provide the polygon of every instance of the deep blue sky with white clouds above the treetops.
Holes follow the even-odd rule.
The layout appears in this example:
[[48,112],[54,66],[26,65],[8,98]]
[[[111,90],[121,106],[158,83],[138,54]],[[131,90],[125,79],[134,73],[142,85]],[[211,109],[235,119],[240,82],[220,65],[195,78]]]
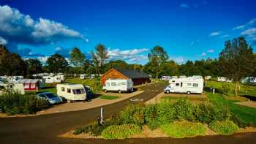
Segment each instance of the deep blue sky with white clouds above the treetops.
[[0,41],[24,58],[89,58],[98,43],[110,59],[146,64],[155,45],[178,63],[217,58],[225,40],[243,35],[255,47],[256,1],[0,0]]

